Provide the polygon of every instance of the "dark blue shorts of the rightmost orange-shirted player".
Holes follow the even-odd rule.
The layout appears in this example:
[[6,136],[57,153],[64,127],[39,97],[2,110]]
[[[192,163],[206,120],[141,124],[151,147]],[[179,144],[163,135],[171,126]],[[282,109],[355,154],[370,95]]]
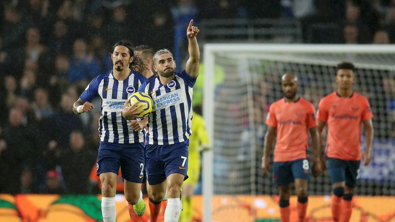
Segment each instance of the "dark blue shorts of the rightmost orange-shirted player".
[[342,160],[336,158],[327,159],[327,168],[331,182],[346,181],[348,187],[355,187],[356,176],[360,169],[360,160]]

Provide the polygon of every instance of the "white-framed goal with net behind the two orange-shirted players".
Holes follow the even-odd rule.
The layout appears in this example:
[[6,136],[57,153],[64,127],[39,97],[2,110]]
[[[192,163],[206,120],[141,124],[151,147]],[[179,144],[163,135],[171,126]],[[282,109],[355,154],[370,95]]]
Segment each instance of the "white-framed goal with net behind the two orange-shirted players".
[[[299,96],[317,108],[319,100],[336,89],[336,65],[342,61],[356,66],[354,91],[369,99],[374,114],[372,161],[360,168],[355,195],[388,198],[394,206],[394,46],[206,44],[203,112],[213,149],[202,162],[204,221],[258,221],[261,210],[272,215],[266,218],[279,215],[277,205],[268,209],[267,200],[250,197],[274,196],[276,202],[272,174],[264,176],[260,166],[266,114],[270,104],[283,97],[281,76],[297,75]],[[330,204],[331,192],[327,171],[311,177],[309,195],[322,196],[322,206]],[[372,217],[381,218],[374,214],[380,210],[376,207],[362,206],[361,214],[373,212]],[[308,216],[314,219],[314,212],[308,211]]]

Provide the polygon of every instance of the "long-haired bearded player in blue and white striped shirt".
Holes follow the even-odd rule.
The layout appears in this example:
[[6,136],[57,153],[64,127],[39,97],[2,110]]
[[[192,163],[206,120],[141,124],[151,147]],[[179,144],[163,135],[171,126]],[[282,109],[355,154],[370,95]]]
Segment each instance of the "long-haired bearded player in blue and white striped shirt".
[[[141,182],[143,178],[143,132],[136,132],[122,112],[128,117],[137,117],[140,106],[125,106],[128,96],[135,93],[146,78],[133,68],[143,67],[142,61],[134,54],[130,43],[120,41],[112,48],[113,69],[99,75],[89,83],[80,98],[73,105],[77,115],[93,108],[91,101],[101,99],[99,119],[100,146],[97,159],[97,175],[102,183],[101,210],[104,222],[115,222],[115,193],[119,168],[124,179],[124,194],[137,215],[145,212]],[[125,106],[125,109],[124,109]]]

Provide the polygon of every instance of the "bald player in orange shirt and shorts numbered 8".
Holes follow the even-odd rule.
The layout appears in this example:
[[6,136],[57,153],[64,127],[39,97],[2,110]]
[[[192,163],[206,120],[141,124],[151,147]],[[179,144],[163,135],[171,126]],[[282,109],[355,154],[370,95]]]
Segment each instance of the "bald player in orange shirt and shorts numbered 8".
[[267,115],[267,132],[262,157],[262,172],[267,174],[268,157],[277,134],[274,151],[273,180],[280,195],[281,221],[290,221],[291,185],[295,181],[298,196],[298,221],[304,221],[308,205],[308,180],[310,165],[307,155],[308,131],[312,137],[314,152],[313,176],[321,174],[319,136],[315,121],[315,108],[297,94],[298,79],[293,74],[285,74],[281,80],[284,98],[274,102]]

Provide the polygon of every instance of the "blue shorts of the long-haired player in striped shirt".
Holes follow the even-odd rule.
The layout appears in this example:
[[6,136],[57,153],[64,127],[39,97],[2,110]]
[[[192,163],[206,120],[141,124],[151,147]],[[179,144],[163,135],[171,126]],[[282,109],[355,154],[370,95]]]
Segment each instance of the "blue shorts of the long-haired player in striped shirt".
[[118,144],[100,142],[97,156],[97,175],[115,173],[121,168],[122,178],[141,183],[144,170],[143,143]]

